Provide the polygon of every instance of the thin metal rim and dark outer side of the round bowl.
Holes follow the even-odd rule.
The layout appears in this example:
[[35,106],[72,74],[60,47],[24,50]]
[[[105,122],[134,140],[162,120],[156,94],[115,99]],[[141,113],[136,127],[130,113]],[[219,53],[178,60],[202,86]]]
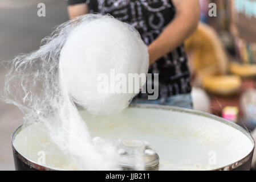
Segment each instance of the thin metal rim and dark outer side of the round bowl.
[[[250,170],[251,160],[253,158],[253,152],[254,152],[254,140],[245,129],[236,125],[235,123],[227,121],[223,118],[217,117],[216,115],[203,113],[201,111],[196,111],[196,110],[181,109],[181,108],[172,107],[172,106],[144,105],[144,104],[136,104],[135,105],[135,104],[133,104],[130,107],[132,107],[133,109],[143,108],[146,110],[153,109],[156,111],[157,110],[165,110],[165,111],[174,111],[174,112],[178,112],[178,113],[188,113],[188,114],[193,114],[193,115],[197,115],[200,117],[210,118],[216,122],[221,122],[227,126],[233,127],[233,129],[238,130],[239,132],[244,134],[250,140],[251,144],[253,145],[252,150],[250,152],[248,152],[248,154],[246,156],[244,156],[242,159],[234,161],[233,163],[231,163],[227,166],[223,166],[221,168],[216,168],[214,170]],[[22,126],[18,127],[18,129],[14,132],[13,137],[11,139],[12,146],[13,146],[15,169],[16,170],[61,170],[61,169],[52,168],[52,167],[38,164],[38,163],[28,159],[26,156],[22,155],[21,152],[19,152],[13,144],[15,137],[21,130],[22,130]],[[161,160],[161,156],[160,156],[160,160]]]

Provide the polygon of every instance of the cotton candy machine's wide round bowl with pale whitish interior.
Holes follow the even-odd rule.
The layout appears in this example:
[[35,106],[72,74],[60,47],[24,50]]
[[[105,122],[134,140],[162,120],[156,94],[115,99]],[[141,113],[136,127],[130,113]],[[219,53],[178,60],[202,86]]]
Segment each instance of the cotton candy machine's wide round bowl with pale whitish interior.
[[[132,105],[123,113],[108,116],[95,116],[84,110],[80,114],[92,137],[121,139],[121,154],[131,153],[134,147],[147,143],[145,155],[155,170],[250,169],[253,138],[242,127],[214,115],[159,105]],[[37,151],[42,150],[36,146],[36,139],[31,143],[35,154],[32,151],[27,154],[20,152],[24,147],[19,143],[23,130],[19,127],[12,138],[15,168],[61,169],[52,167],[49,162],[48,165],[36,162]],[[51,159],[58,160],[56,163],[62,160],[58,154]]]

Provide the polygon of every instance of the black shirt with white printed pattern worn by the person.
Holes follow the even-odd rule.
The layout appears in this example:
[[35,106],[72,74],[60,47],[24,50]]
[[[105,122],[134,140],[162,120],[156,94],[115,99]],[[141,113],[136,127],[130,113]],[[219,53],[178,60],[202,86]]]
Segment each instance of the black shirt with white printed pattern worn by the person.
[[[172,0],[67,0],[68,5],[87,3],[91,13],[110,14],[135,27],[149,45],[176,13]],[[171,40],[170,40],[171,41]],[[190,75],[184,46],[176,48],[149,67],[159,73],[159,98],[190,93]],[[146,98],[147,94],[138,97]]]

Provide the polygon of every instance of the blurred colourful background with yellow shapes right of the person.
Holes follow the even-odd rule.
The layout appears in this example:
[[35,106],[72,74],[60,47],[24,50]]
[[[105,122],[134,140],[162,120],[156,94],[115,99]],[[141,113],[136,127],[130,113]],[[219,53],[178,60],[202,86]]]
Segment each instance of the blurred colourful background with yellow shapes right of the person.
[[[209,16],[214,9],[210,3],[216,5],[217,16]],[[200,0],[201,23],[185,42],[194,109],[224,117],[250,131],[256,124],[255,3]]]

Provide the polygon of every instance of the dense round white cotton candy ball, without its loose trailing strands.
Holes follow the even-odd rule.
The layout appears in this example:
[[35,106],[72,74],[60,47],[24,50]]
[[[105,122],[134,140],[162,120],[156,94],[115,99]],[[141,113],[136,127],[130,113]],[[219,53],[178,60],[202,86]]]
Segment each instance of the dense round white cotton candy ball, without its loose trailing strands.
[[[128,106],[133,93],[101,93],[99,75],[110,79],[111,69],[117,73],[148,71],[147,46],[138,32],[111,16],[97,16],[85,21],[68,36],[60,52],[60,75],[68,93],[92,114],[117,113]],[[145,80],[139,85],[144,85]],[[111,80],[109,80],[109,88]],[[128,85],[133,86],[133,85]]]

